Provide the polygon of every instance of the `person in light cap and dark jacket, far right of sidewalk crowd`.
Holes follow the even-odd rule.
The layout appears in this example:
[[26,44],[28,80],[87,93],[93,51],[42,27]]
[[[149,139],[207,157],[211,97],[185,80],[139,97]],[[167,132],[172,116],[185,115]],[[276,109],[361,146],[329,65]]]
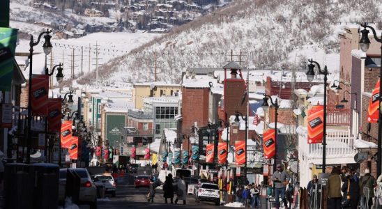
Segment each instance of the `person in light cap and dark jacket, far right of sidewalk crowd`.
[[[365,169],[365,176],[362,176],[360,179],[360,192],[361,192],[361,201],[363,206],[367,206],[367,209],[372,208],[373,198],[374,198],[374,187],[376,187],[376,180],[374,176],[370,174],[369,169]],[[367,195],[366,191],[369,191],[369,195]]]

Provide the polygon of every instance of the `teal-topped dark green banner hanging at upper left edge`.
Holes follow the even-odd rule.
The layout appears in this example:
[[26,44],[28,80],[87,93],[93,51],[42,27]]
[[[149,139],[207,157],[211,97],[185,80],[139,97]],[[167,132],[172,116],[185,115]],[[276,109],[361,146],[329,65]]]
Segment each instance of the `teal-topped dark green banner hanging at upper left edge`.
[[[3,3],[3,1],[1,3]],[[3,7],[3,5],[1,7]],[[2,15],[3,14],[0,16]],[[1,18],[0,22],[2,22]],[[11,90],[13,67],[15,65],[17,30],[18,29],[0,28],[0,91]]]

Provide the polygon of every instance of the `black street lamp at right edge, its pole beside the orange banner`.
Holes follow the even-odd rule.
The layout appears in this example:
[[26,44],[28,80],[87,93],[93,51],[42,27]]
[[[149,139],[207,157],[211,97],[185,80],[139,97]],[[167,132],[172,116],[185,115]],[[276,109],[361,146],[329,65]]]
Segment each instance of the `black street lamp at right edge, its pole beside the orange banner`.
[[[367,52],[367,49],[369,49],[370,46],[370,40],[368,33],[369,31],[366,28],[369,28],[373,32],[374,39],[377,42],[380,42],[382,44],[382,38],[378,38],[376,36],[376,31],[372,26],[368,26],[365,22],[364,24],[361,24],[363,27],[363,30],[361,31],[362,37],[360,39],[360,48],[362,49],[362,52]],[[379,70],[379,79],[382,79],[382,45],[381,45],[381,58],[380,58],[380,70]],[[376,164],[376,175],[381,175],[381,163],[382,163],[382,112],[381,112],[381,104],[382,104],[382,82],[379,82],[379,114],[378,114],[378,152],[377,152],[377,164]]]

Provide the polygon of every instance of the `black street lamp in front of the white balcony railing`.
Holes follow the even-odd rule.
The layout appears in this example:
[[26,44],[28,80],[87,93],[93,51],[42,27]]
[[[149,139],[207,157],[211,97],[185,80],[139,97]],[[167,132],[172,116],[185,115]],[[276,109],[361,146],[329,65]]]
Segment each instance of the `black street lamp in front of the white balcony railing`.
[[308,65],[308,71],[306,72],[307,79],[309,82],[312,82],[314,78],[314,64],[319,68],[319,75],[323,75],[323,141],[322,141],[322,172],[326,173],[326,86],[328,82],[328,68],[323,68],[323,71],[320,68],[319,63],[313,61],[313,59],[308,60],[310,64]]

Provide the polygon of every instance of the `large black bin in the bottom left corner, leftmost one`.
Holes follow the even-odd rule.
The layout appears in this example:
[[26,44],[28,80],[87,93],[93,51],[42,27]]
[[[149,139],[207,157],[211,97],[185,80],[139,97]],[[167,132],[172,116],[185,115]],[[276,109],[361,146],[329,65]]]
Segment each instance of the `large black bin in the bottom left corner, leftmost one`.
[[29,165],[22,163],[5,164],[4,170],[4,208],[32,208],[33,179],[29,176]]

